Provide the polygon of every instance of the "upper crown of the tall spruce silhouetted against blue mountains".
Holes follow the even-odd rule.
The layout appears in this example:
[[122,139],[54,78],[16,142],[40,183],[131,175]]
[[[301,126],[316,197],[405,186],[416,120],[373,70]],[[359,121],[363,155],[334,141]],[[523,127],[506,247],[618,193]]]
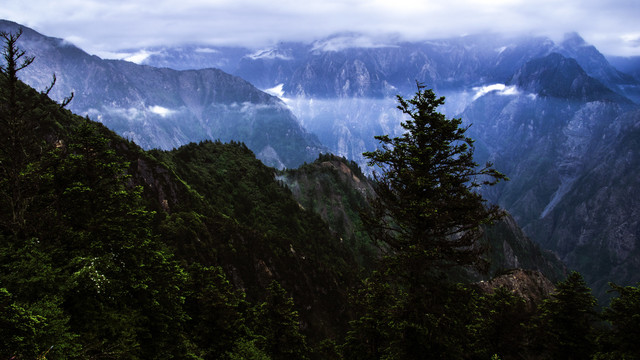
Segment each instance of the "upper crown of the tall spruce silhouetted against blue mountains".
[[436,111],[444,97],[418,84],[412,99],[398,102],[409,116],[405,133],[376,136],[380,149],[363,154],[380,171],[368,228],[394,252],[418,250],[434,267],[477,264],[479,226],[500,211],[476,190],[506,177],[490,163],[478,168],[468,127]]

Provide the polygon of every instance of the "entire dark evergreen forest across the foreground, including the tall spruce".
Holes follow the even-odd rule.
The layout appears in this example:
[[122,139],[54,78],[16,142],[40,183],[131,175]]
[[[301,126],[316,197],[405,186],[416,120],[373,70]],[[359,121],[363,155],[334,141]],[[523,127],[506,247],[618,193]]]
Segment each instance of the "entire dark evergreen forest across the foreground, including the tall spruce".
[[330,154],[276,171],[238,142],[144,151],[52,101],[53,74],[21,82],[1,35],[0,359],[640,358],[639,286],[478,281],[513,274],[475,191],[508,179],[422,85],[372,179]]

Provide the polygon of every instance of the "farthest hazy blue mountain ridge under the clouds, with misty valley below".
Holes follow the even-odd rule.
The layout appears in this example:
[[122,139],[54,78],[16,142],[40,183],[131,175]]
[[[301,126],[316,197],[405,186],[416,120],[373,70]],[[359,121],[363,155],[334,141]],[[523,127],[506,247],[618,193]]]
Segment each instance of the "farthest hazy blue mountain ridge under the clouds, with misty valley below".
[[[494,84],[535,92],[541,85],[538,82],[544,81],[539,89],[554,96],[598,99],[602,92],[611,97],[617,96],[614,91],[635,96],[640,90],[637,81],[616,70],[577,34],[567,35],[560,43],[544,37],[496,35],[411,43],[338,34],[314,43],[280,43],[260,51],[215,48],[203,52],[201,47],[191,47],[151,49],[150,53],[145,63],[176,68],[219,65],[263,89],[280,85],[279,95],[305,128],[317,134],[331,152],[365,169],[361,154],[378,145],[373,136],[402,131],[398,124],[403,115],[395,108],[395,95],[411,96],[416,81],[447,97],[443,111],[450,116],[462,113],[476,100],[478,89]],[[572,79],[562,82],[566,89],[548,86],[559,73],[538,74],[531,72],[531,66],[523,67],[551,54],[559,63],[566,63],[559,66],[574,65],[575,73],[565,73]],[[516,74],[518,71],[521,73]],[[566,92],[572,87],[585,93]]]

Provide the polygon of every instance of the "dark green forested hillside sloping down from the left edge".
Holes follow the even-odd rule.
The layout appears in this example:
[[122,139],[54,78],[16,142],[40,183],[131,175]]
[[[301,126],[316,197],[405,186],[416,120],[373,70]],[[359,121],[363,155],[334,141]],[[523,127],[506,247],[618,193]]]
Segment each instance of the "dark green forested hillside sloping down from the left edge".
[[2,357],[304,358],[300,324],[346,326],[348,249],[244,145],[145,153],[5,54]]

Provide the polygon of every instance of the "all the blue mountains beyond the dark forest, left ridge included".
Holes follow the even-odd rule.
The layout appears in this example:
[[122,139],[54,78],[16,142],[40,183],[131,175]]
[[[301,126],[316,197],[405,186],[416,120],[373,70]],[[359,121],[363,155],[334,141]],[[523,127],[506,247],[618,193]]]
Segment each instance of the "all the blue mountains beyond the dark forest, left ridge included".
[[265,49],[131,50],[143,55],[141,65],[101,60],[28,29],[21,45],[40,59],[27,83],[44,88],[55,72],[54,96],[73,91],[72,110],[145,148],[243,141],[278,168],[330,151],[370,173],[361,154],[375,148],[373,136],[402,131],[395,95],[411,96],[416,82],[425,84],[446,96],[443,112],[471,125],[477,161],[510,177],[485,197],[599,294],[607,281],[639,280],[637,67],[612,60],[629,73],[618,70],[578,34],[559,43],[497,35],[376,42],[339,34]]

